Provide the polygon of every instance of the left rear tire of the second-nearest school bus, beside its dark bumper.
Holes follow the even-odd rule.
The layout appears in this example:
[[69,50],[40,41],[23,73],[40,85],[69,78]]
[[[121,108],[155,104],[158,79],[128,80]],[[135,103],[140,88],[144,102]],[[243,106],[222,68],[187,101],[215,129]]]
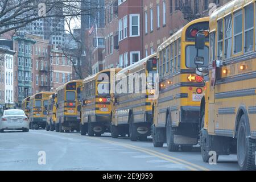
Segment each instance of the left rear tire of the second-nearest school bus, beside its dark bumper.
[[167,125],[166,125],[166,143],[168,151],[176,152],[179,150],[179,145],[174,143],[174,132],[172,131],[170,116],[167,115]]

